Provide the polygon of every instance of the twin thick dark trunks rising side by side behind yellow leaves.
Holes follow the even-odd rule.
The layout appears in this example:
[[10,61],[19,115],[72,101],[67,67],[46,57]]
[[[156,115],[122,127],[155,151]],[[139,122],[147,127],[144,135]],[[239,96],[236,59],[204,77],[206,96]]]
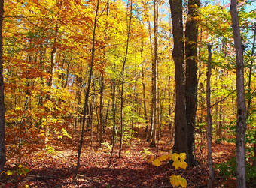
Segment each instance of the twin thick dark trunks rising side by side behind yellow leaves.
[[[194,166],[194,131],[197,112],[197,16],[199,0],[188,1],[188,13],[183,35],[182,1],[169,1],[172,12],[172,33],[175,62],[175,150],[186,152],[189,166]],[[185,57],[184,57],[185,50]],[[187,141],[184,142],[184,138]],[[184,146],[187,145],[187,146]]]

